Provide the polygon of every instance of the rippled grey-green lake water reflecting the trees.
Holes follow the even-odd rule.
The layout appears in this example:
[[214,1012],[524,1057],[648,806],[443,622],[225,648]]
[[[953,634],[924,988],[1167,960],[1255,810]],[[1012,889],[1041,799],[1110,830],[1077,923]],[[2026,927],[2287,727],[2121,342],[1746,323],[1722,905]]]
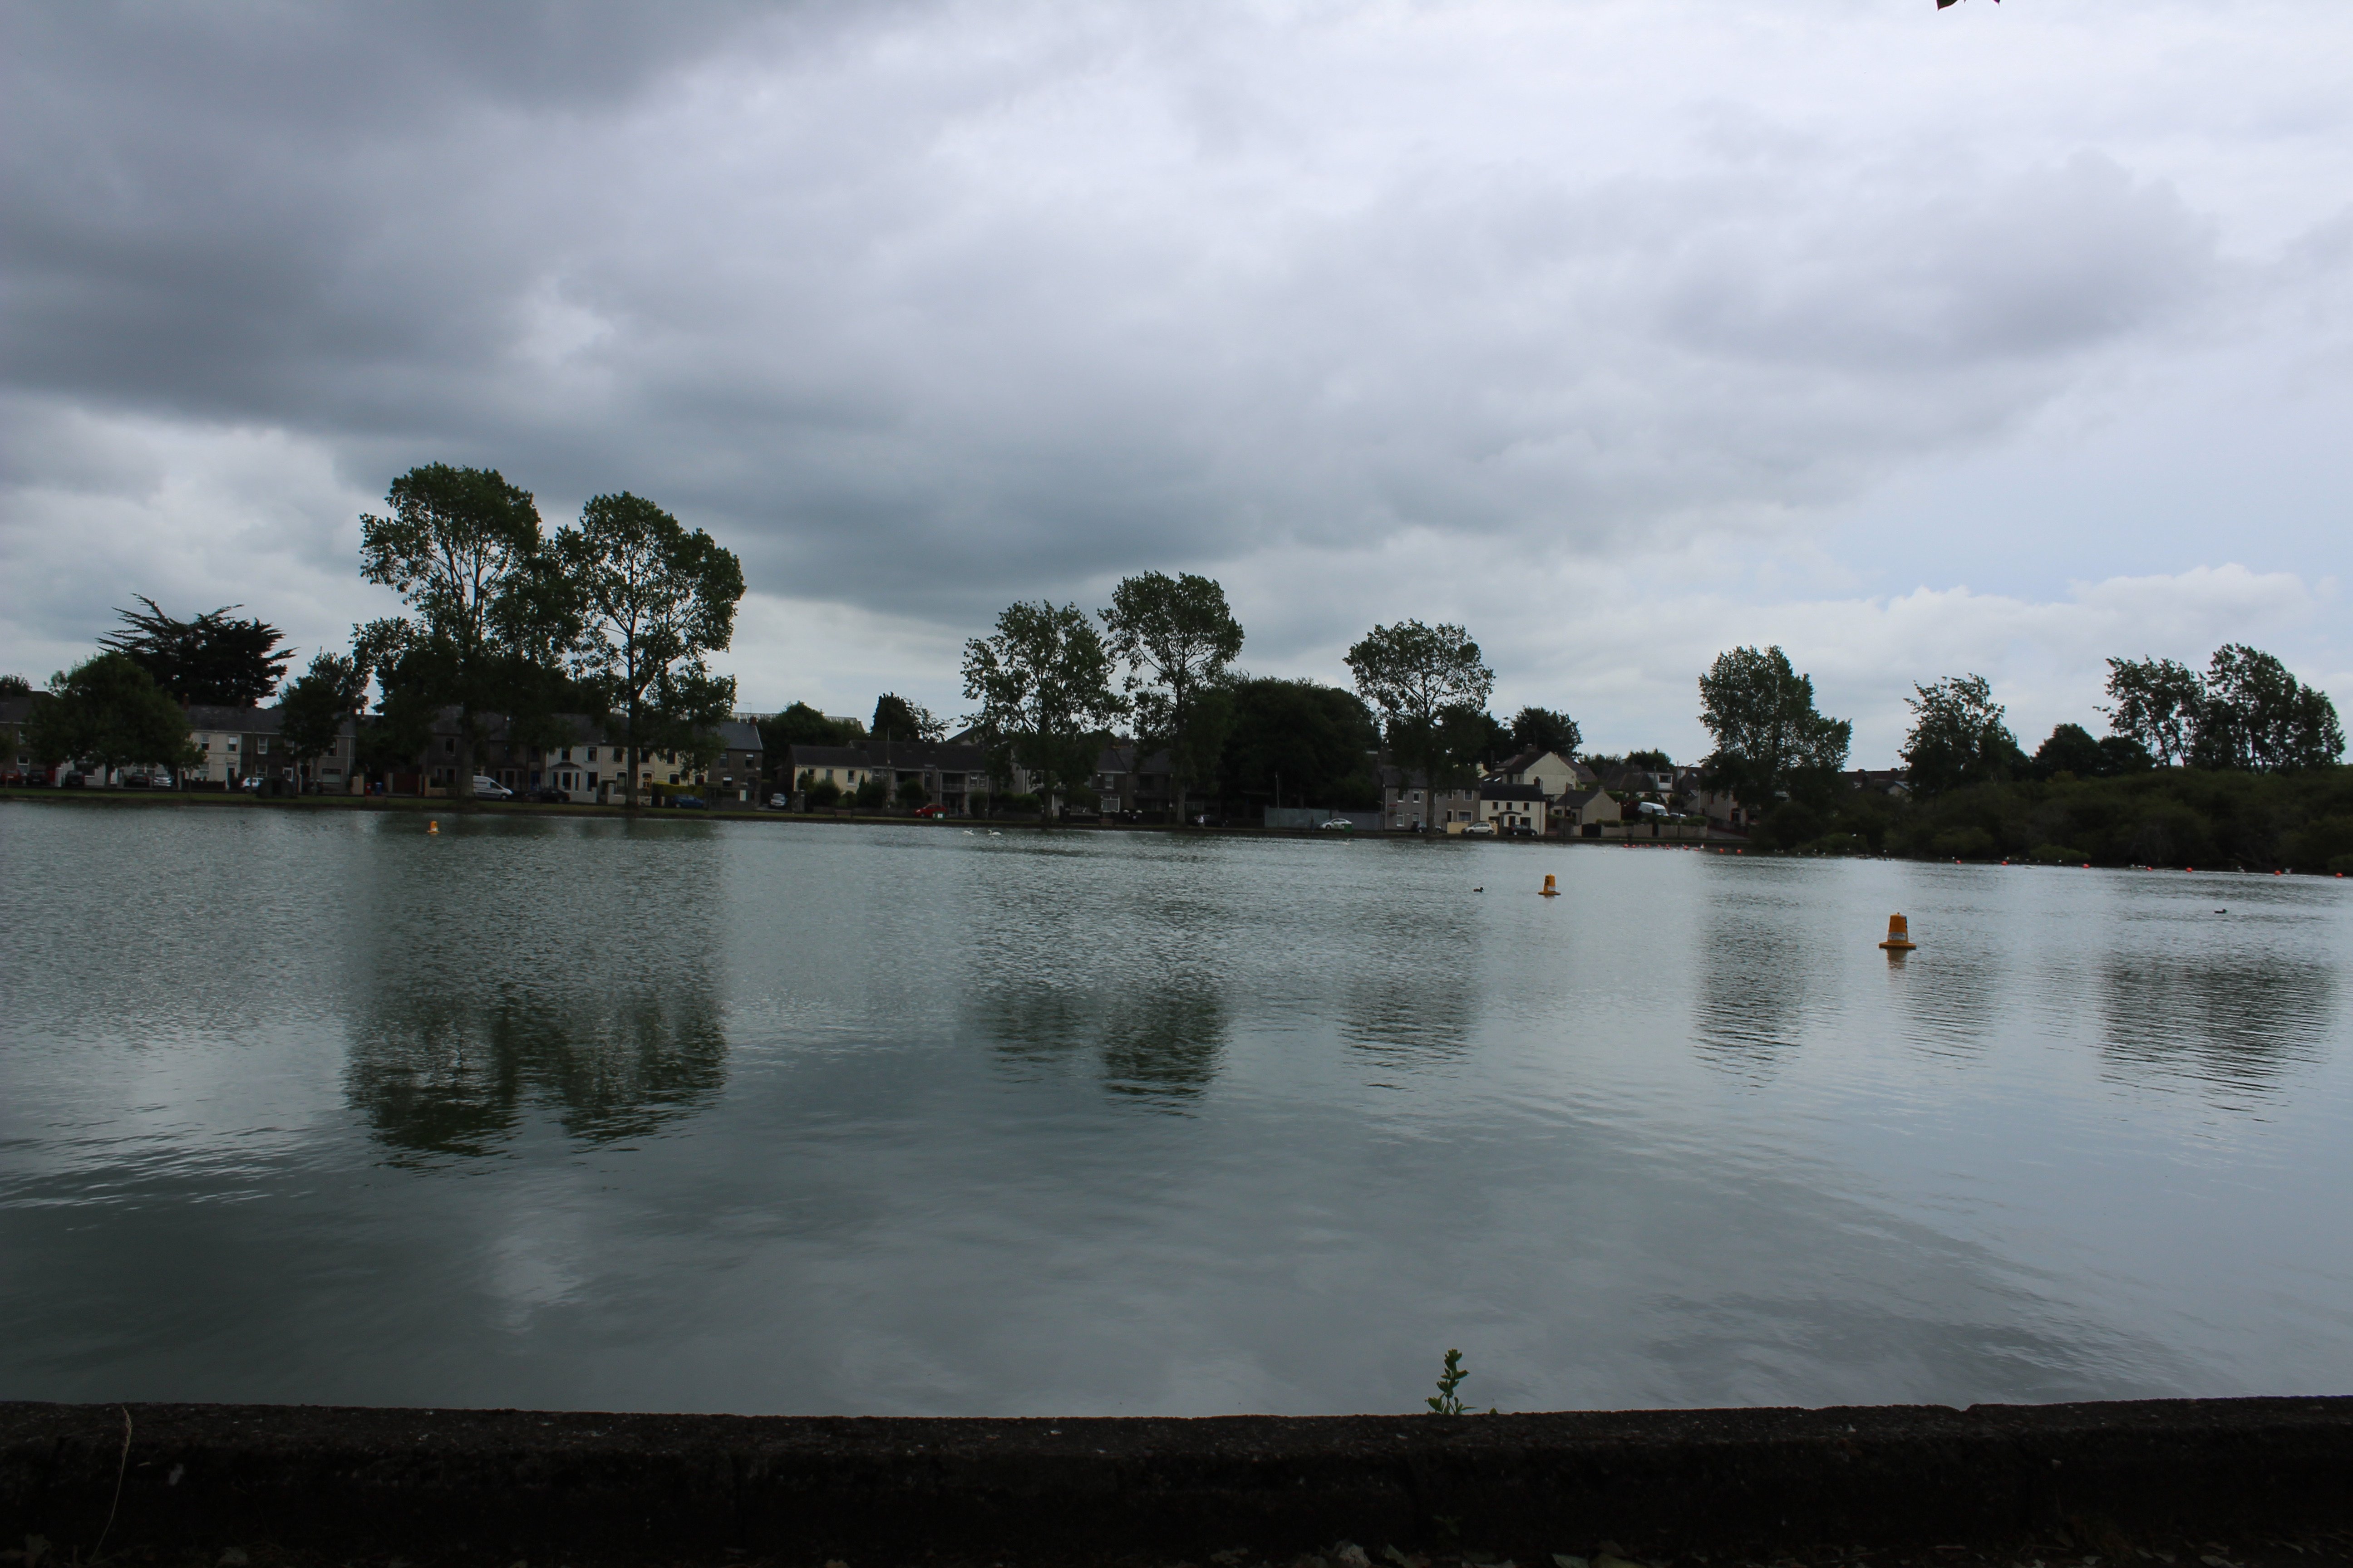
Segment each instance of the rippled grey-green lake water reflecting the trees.
[[0,1396],[2346,1394],[2348,889],[0,804]]

